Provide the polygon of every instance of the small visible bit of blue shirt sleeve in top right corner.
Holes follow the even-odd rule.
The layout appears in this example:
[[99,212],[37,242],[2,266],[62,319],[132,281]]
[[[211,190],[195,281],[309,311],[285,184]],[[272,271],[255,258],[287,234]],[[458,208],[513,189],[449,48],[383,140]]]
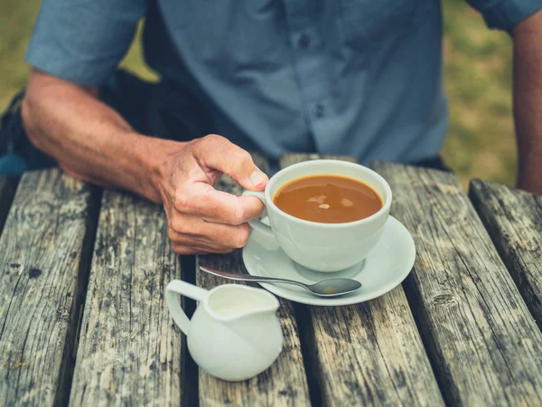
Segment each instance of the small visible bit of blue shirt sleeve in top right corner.
[[511,30],[529,15],[542,9],[542,0],[467,0],[490,28]]

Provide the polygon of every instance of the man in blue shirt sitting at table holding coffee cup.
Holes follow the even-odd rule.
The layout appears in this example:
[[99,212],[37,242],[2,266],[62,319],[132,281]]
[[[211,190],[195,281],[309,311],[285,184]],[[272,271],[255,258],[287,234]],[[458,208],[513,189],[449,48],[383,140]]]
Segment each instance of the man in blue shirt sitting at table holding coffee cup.
[[[541,194],[542,1],[471,3],[513,37],[519,186]],[[116,71],[143,16],[156,86]],[[23,125],[68,174],[164,204],[175,251],[231,251],[262,205],[212,185],[263,189],[248,149],[438,162],[441,40],[435,0],[43,0]]]

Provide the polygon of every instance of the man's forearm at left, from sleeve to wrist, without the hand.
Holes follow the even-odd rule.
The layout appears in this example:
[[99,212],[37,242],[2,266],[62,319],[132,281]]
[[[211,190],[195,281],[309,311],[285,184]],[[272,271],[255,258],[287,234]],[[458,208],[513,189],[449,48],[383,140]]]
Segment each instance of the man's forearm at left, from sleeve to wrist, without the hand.
[[135,133],[95,91],[33,72],[23,123],[33,144],[70,175],[161,201],[157,167],[179,143]]

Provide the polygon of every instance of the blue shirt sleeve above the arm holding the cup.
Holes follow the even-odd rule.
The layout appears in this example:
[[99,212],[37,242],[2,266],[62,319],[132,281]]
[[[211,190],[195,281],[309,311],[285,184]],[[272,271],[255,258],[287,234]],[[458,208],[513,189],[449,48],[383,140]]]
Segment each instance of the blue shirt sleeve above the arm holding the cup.
[[146,0],[43,0],[26,62],[98,87],[115,71],[145,15]]

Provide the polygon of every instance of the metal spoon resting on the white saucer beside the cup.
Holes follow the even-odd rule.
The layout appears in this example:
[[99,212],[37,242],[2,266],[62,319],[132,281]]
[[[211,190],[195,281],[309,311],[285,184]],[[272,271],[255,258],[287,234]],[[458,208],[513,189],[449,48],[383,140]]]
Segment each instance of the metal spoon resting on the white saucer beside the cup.
[[214,274],[215,276],[223,277],[224,279],[294,284],[296,286],[303,287],[304,289],[311,291],[314,295],[320,297],[338,297],[355,291],[361,287],[360,281],[356,279],[324,279],[314,284],[305,284],[301,281],[294,281],[293,279],[276,279],[272,277],[251,276],[249,274],[230,273],[228,271],[214,270],[201,266],[200,269],[207,273]]

